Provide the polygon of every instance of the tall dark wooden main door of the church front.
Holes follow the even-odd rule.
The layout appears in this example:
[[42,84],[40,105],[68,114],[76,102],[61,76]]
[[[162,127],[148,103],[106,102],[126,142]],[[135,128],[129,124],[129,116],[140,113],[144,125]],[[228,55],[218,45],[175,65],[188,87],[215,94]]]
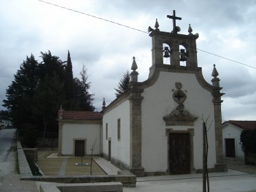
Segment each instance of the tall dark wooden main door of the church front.
[[189,133],[170,133],[170,174],[190,172]]

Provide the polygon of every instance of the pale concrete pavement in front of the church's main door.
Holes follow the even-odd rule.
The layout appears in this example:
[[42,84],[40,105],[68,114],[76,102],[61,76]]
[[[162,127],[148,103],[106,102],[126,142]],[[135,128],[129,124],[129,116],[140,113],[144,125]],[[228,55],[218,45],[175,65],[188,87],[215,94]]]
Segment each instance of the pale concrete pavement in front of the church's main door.
[[[256,175],[242,173],[240,171],[233,172],[229,170],[226,176],[214,173],[209,178],[209,186],[211,192],[256,192]],[[183,176],[156,176],[137,178],[137,187],[124,187],[125,192],[147,191],[147,192],[198,192],[202,191],[202,178],[198,178],[199,174],[189,174]]]

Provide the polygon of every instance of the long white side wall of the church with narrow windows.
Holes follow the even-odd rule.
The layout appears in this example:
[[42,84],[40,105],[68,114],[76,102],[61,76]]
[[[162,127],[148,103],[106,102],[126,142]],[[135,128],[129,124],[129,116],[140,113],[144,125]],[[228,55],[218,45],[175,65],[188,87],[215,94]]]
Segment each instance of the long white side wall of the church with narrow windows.
[[[117,139],[117,119],[120,119],[121,123],[120,140]],[[119,160],[124,165],[130,165],[130,101],[126,100],[104,113],[102,122],[103,153],[108,155],[108,140],[111,140],[111,158]],[[108,123],[107,139],[106,123]]]

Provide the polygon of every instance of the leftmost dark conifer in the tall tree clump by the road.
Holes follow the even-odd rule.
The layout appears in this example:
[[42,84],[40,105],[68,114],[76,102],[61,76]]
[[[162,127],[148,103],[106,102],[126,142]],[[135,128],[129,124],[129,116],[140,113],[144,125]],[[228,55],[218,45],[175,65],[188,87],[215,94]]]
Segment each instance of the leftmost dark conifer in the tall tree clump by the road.
[[14,126],[32,122],[34,91],[38,82],[38,62],[31,54],[14,75],[12,84],[6,89],[3,106],[10,110]]

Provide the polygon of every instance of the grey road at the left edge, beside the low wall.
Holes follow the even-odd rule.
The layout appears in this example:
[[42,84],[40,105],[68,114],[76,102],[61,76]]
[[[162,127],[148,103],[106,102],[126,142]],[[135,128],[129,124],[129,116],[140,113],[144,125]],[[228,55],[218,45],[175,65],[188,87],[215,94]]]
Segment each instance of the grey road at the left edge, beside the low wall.
[[5,162],[14,139],[16,129],[0,130],[0,163]]

